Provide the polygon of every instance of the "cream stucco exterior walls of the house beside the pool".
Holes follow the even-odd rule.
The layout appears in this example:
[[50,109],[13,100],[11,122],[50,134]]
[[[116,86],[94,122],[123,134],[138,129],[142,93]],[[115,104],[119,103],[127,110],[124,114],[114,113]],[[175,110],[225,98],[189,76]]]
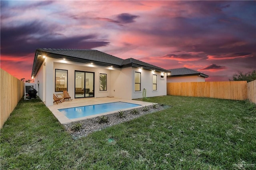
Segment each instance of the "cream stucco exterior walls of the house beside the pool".
[[[40,81],[40,98],[46,106],[53,105],[52,94],[55,92],[55,69],[68,70],[68,93],[75,99],[75,71],[94,73],[94,97],[119,97],[122,99],[142,98],[142,91],[146,89],[146,97],[166,95],[166,73],[149,71],[135,67],[124,69],[104,67],[87,63],[66,61],[61,59],[46,58],[35,77],[35,82]],[[134,72],[141,73],[141,91],[134,91]],[[99,74],[107,74],[107,91],[100,91]],[[152,90],[152,74],[157,75],[157,90]],[[164,79],[160,79],[164,75]],[[90,88],[90,91],[92,89]]]

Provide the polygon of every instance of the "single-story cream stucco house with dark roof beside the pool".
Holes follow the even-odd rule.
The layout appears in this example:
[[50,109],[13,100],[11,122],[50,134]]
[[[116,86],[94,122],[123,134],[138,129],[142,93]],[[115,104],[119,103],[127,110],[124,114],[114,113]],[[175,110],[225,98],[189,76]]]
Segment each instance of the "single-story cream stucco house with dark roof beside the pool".
[[[137,59],[121,59],[94,49],[36,49],[32,79],[39,97],[53,105],[52,94],[67,90],[72,99],[122,99],[166,95],[170,71]],[[146,89],[144,91],[144,89]]]

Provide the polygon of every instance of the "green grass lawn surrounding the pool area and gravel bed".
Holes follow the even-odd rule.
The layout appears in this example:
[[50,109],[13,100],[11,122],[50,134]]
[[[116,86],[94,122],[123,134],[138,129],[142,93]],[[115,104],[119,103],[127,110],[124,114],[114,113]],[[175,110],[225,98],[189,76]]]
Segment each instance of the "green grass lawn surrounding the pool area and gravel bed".
[[40,100],[21,100],[1,129],[1,169],[256,169],[254,104],[143,100],[172,107],[78,140]]

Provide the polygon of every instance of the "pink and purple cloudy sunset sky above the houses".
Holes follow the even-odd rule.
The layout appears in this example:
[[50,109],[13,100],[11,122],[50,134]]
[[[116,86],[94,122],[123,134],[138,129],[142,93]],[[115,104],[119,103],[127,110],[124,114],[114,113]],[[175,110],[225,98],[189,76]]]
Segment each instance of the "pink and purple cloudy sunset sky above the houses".
[[31,79],[37,48],[97,49],[228,81],[256,69],[256,1],[4,1],[1,68]]

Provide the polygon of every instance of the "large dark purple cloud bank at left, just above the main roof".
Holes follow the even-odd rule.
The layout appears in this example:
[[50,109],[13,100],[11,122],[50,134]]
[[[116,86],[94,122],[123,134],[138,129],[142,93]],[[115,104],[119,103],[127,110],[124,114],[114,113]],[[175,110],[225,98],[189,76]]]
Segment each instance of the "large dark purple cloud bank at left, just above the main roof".
[[66,38],[63,34],[55,32],[54,28],[57,28],[57,26],[47,28],[40,22],[31,22],[12,28],[1,28],[1,55],[24,56],[41,47],[91,49],[106,46],[109,43],[93,41],[92,39],[97,39],[96,34]]

